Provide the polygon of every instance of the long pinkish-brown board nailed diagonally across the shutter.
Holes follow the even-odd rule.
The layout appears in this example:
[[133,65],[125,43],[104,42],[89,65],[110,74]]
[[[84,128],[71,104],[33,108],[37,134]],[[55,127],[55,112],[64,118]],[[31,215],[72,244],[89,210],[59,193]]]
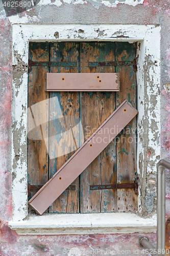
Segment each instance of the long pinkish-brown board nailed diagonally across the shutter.
[[137,113],[137,110],[127,100],[118,106],[98,130],[86,140],[76,153],[63,164],[58,172],[30,199],[29,204],[38,214],[43,214]]

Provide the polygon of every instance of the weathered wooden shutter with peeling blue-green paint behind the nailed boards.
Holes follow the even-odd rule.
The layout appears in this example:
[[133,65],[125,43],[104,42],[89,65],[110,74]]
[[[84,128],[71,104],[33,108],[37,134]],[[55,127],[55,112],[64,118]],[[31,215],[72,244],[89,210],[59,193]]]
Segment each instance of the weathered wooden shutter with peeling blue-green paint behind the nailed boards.
[[[32,48],[41,48],[37,55],[33,58],[34,61],[44,61],[43,63],[34,65],[44,65],[44,67],[32,67],[30,77],[35,76],[36,81],[32,81],[29,90],[37,90],[38,79],[40,76],[36,73],[32,75],[33,68],[45,69],[50,72],[119,72],[120,73],[120,92],[50,92],[50,102],[58,101],[62,109],[62,114],[67,116],[76,115],[82,120],[85,140],[110,116],[116,107],[128,99],[132,105],[136,106],[136,77],[133,68],[133,60],[135,58],[135,44],[127,42],[57,42],[57,43],[32,43]],[[44,49],[50,49],[47,57],[40,59],[43,56]],[[32,52],[30,47],[30,52]],[[34,50],[35,51],[35,50]],[[36,52],[36,51],[35,51]],[[45,55],[47,56],[47,55]],[[46,66],[45,66],[46,61]],[[58,62],[58,66],[48,69],[48,61]],[[115,61],[120,61],[120,65],[115,68]],[[126,62],[129,61],[129,62]],[[74,65],[71,66],[71,63]],[[76,66],[75,66],[76,62]],[[113,63],[114,62],[114,63]],[[66,64],[67,63],[67,64]],[[70,66],[69,66],[70,63]],[[126,65],[130,66],[122,66]],[[113,65],[114,64],[114,65]],[[65,65],[65,66],[64,66]],[[67,65],[67,66],[66,66]],[[47,71],[46,71],[47,72]],[[37,78],[37,76],[39,78]],[[42,76],[41,76],[42,77]],[[41,83],[44,85],[44,83]],[[30,88],[30,81],[29,81]],[[42,89],[42,88],[41,88]],[[39,89],[41,91],[41,89]],[[44,91],[44,90],[43,90]],[[31,91],[29,91],[30,94]],[[48,98],[47,92],[45,98]],[[41,93],[40,93],[41,95]],[[30,97],[30,96],[29,96]],[[39,99],[34,100],[34,103]],[[29,103],[31,104],[31,103]],[[55,102],[49,104],[49,113],[55,114]],[[69,119],[70,121],[71,119]],[[57,125],[64,129],[64,120],[59,120],[59,123],[49,122],[48,131],[55,130]],[[71,122],[71,121],[70,121]],[[54,127],[52,127],[54,126]],[[53,129],[52,129],[53,128]],[[137,208],[137,195],[133,189],[99,189],[90,190],[90,185],[115,184],[118,183],[133,183],[136,172],[136,143],[135,143],[135,118],[127,130],[113,140],[105,150],[84,170],[79,178],[72,183],[75,190],[65,190],[64,193],[52,204],[48,209],[49,212],[107,212],[107,211],[129,211]],[[131,134],[127,134],[127,131]],[[119,138],[133,137],[133,143],[118,141]],[[49,134],[51,137],[51,134]],[[71,140],[71,138],[70,138]],[[117,141],[116,141],[117,140]],[[117,143],[116,143],[117,142]],[[32,143],[32,149],[29,152],[35,152],[39,142]],[[28,143],[28,144],[29,144]],[[47,142],[46,142],[47,143]],[[64,143],[64,141],[63,141]],[[52,140],[49,138],[48,145],[51,147]],[[80,141],[79,145],[82,144]],[[35,146],[36,145],[36,146]],[[41,144],[42,146],[42,144]],[[28,145],[29,147],[29,145]],[[46,147],[44,147],[44,151]],[[62,148],[61,148],[62,150]],[[29,183],[32,187],[36,184],[44,184],[44,180],[49,179],[57,172],[57,170],[74,154],[74,152],[57,157],[55,159],[47,159],[48,168],[44,175],[43,166],[41,165],[42,153],[31,160],[29,154]],[[39,164],[38,175],[37,166]],[[45,166],[46,167],[46,166]],[[36,174],[36,175],[35,175]],[[44,177],[44,180],[39,177]],[[33,178],[35,177],[35,178]],[[45,180],[45,181],[46,181]],[[31,192],[33,196],[34,192]],[[80,201],[80,205],[79,205]]]

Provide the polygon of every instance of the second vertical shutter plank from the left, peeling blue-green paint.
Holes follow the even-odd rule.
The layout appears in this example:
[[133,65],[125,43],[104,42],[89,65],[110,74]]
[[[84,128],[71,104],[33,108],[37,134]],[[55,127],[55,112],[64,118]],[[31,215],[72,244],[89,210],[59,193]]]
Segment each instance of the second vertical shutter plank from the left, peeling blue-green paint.
[[[75,42],[51,43],[50,61],[78,62],[76,67],[51,67],[50,72],[79,72],[79,44]],[[61,111],[62,118],[56,119],[59,109]],[[53,119],[53,121],[50,121],[49,147],[51,148],[51,151],[54,152],[58,147],[58,154],[60,156],[49,159],[49,178],[51,178],[76,151],[72,151],[71,153],[66,152],[67,148],[71,148],[71,146],[75,144],[75,141],[72,134],[65,137],[64,132],[69,130],[69,126],[74,126],[75,117],[79,118],[79,93],[50,92],[50,115],[53,115],[53,117],[50,117],[50,119]],[[67,118],[66,116],[70,116],[70,118]],[[60,133],[62,140],[58,141],[56,136],[59,136]],[[54,135],[56,137],[55,140],[53,138]],[[77,129],[76,137],[79,137],[79,127]],[[77,144],[77,148],[79,148],[79,146],[80,145]],[[76,190],[65,190],[62,195],[52,204],[52,206],[49,207],[49,212],[79,212],[79,178],[77,178],[72,184],[76,185]]]

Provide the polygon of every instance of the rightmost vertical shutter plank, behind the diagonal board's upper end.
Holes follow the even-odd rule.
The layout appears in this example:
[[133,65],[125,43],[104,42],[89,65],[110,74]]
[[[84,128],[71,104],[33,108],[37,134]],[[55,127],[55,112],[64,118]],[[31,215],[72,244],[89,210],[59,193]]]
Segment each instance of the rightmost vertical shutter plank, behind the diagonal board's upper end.
[[[115,42],[115,60],[133,60],[135,44]],[[120,73],[120,92],[116,106],[127,99],[136,108],[136,74],[132,66],[116,67]],[[116,138],[117,183],[134,182],[136,173],[136,117]],[[133,189],[117,189],[117,211],[137,210],[137,195]]]

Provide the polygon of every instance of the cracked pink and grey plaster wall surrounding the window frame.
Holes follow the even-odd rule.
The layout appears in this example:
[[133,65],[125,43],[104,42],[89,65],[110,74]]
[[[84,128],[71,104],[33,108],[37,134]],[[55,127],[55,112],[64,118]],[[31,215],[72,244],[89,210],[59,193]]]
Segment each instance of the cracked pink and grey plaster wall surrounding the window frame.
[[[55,236],[48,238],[43,237],[18,237],[15,231],[8,228],[7,223],[12,217],[12,197],[11,197],[11,102],[12,102],[12,24],[14,23],[28,23],[28,24],[154,24],[161,26],[161,158],[170,158],[170,1],[169,0],[125,0],[125,1],[102,1],[102,0],[63,0],[63,1],[50,1],[41,0],[40,3],[33,9],[23,12],[19,15],[6,17],[5,11],[0,3],[0,104],[1,104],[1,118],[0,118],[0,219],[1,219],[1,245],[0,255],[31,255],[35,250],[35,255],[48,255],[45,252],[43,245],[51,243],[49,248],[52,248],[54,241],[62,241],[63,247],[71,248],[71,244],[77,243],[76,246],[81,250],[82,238],[81,236]],[[77,32],[80,34],[83,31]],[[100,33],[105,33],[104,31]],[[56,33],[55,37],[58,38]],[[153,46],[154,47],[154,46]],[[13,67],[16,86],[19,84],[17,81],[18,72],[24,73],[27,70],[25,63],[17,57],[17,65]],[[148,56],[149,57],[149,56]],[[153,63],[151,63],[152,65]],[[17,92],[19,93],[19,92]],[[154,102],[156,99],[153,97],[151,103],[154,108]],[[22,139],[22,131],[14,129],[16,133],[20,133]],[[154,123],[151,124],[154,129]],[[15,136],[15,135],[14,135]],[[159,136],[159,135],[157,135]],[[156,141],[155,137],[155,141]],[[24,141],[22,141],[24,143]],[[19,152],[19,142],[15,142],[15,155],[16,160],[21,162]],[[145,166],[152,166],[150,159],[155,155],[152,147],[148,147],[145,152],[145,159],[141,159],[140,164]],[[159,156],[155,156],[159,159]],[[15,174],[13,174],[15,177]],[[146,184],[145,189],[141,191],[142,202],[142,214],[153,215],[156,210],[156,173],[151,170],[144,176],[144,182]],[[170,214],[170,193],[168,174],[166,178],[166,213]],[[129,236],[129,235],[127,235]],[[122,236],[122,239],[127,238],[126,235]],[[139,234],[134,234],[135,243],[137,246],[137,239]],[[132,237],[133,237],[132,236]],[[98,236],[97,236],[98,237]],[[101,247],[104,248],[104,237],[100,236]],[[155,241],[155,234],[151,235],[152,240]],[[60,239],[59,239],[60,238]],[[99,238],[99,237],[98,237]],[[91,243],[90,239],[95,240],[96,236],[84,236],[83,239],[87,239],[88,246]],[[110,246],[113,241],[116,240],[116,244],[120,243],[116,235],[110,235],[108,241]],[[76,242],[77,241],[77,242]],[[64,244],[65,243],[65,244]],[[8,244],[8,245],[7,245]],[[36,246],[34,246],[36,244]],[[40,245],[39,245],[40,244]],[[124,248],[122,243],[122,248]],[[13,248],[17,251],[14,252]],[[28,248],[28,250],[27,250]],[[33,249],[34,248],[34,249]],[[37,249],[38,248],[38,249]],[[61,248],[59,248],[61,250]],[[57,247],[53,248],[53,253],[62,255],[61,251],[57,251]],[[52,251],[51,251],[52,252]],[[16,253],[16,254],[15,254]],[[50,252],[49,252],[50,253]],[[82,253],[82,252],[81,252]],[[77,255],[81,255],[78,253]],[[49,254],[51,255],[51,254]],[[71,253],[68,255],[71,255]]]

